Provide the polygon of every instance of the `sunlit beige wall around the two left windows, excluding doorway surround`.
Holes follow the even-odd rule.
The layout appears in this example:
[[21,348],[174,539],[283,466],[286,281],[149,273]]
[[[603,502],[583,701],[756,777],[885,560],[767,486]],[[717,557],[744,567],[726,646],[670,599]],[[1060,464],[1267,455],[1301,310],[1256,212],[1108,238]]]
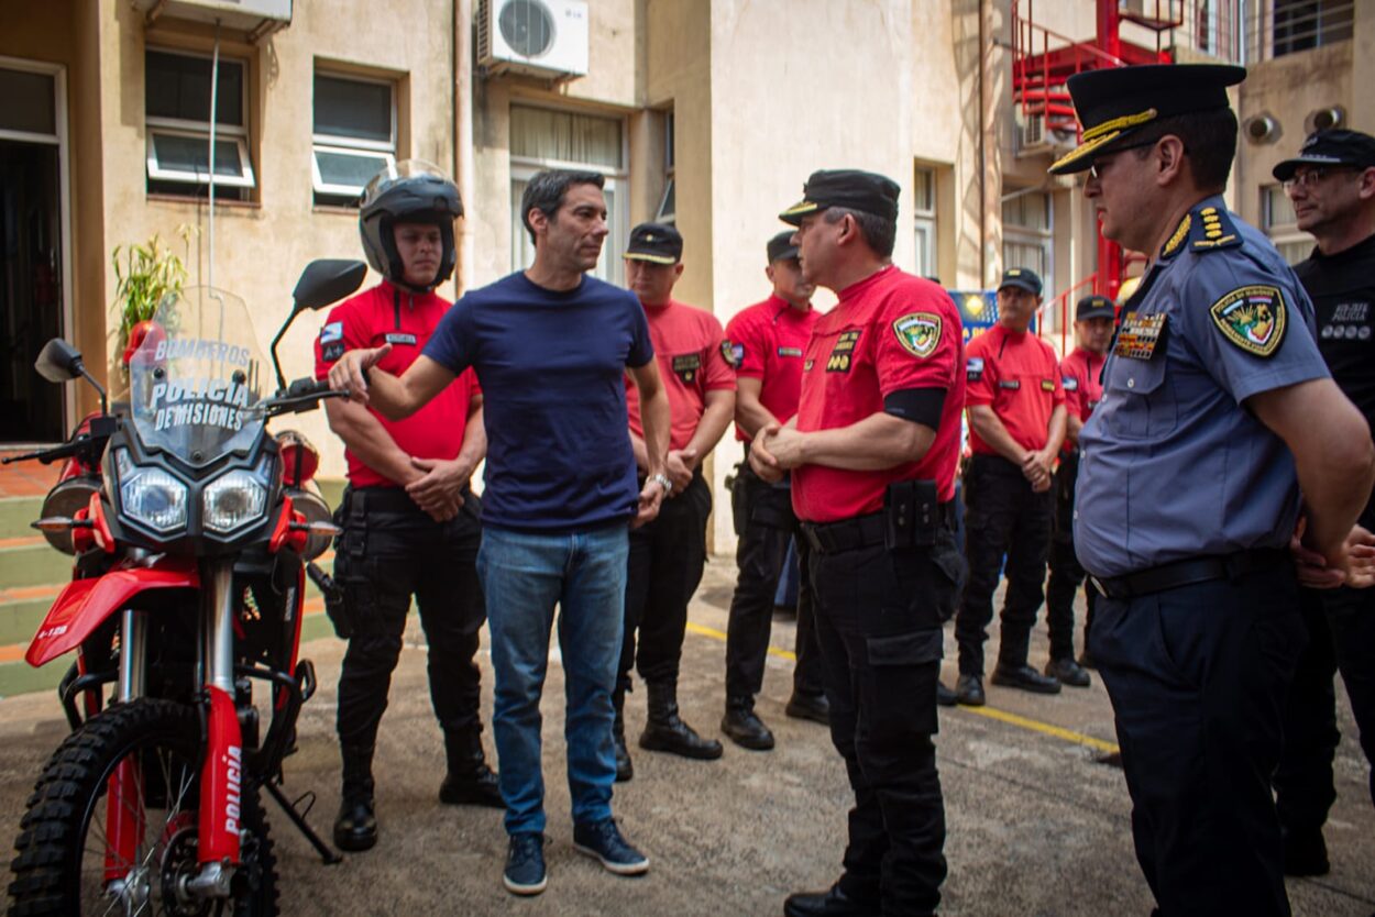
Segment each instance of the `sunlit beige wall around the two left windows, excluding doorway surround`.
[[[190,282],[209,283],[213,271],[214,286],[242,297],[264,352],[290,311],[292,287],[308,261],[363,257],[358,212],[314,203],[316,67],[395,81],[397,159],[417,157],[454,170],[448,0],[396,0],[385,16],[378,16],[368,0],[297,3],[292,25],[258,45],[245,43],[242,33],[223,30],[220,55],[248,63],[249,150],[257,188],[248,202],[216,206],[212,267],[208,206],[146,190],[143,65],[150,45],[210,52],[213,27],[173,19],[144,26],[142,14],[126,3],[100,5],[104,247],[139,242],[154,232],[173,241],[179,225],[195,227],[187,253]],[[370,274],[364,286],[378,279]],[[106,289],[114,290],[110,268]],[[314,373],[314,340],[323,322],[324,313],[302,315],[282,340],[279,355],[287,379]],[[111,323],[109,334],[114,330]],[[293,422],[320,450],[322,474],[342,474],[344,448],[329,432],[324,412],[302,414]]]

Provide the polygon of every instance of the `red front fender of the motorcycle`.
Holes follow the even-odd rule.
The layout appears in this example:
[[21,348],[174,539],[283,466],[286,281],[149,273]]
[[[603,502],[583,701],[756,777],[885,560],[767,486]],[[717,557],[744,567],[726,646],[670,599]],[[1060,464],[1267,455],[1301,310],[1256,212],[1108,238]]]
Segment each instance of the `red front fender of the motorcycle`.
[[81,645],[106,619],[153,590],[199,588],[192,562],[162,558],[155,566],[116,568],[99,577],[73,580],[52,602],[25,660],[37,668]]

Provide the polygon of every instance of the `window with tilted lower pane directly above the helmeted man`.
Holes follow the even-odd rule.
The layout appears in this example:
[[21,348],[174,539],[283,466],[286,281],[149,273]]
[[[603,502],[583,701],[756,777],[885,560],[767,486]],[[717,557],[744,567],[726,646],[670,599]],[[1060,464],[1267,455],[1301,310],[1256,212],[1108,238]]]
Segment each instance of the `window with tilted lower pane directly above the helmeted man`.
[[314,107],[315,202],[358,206],[373,176],[396,165],[396,84],[316,71]]

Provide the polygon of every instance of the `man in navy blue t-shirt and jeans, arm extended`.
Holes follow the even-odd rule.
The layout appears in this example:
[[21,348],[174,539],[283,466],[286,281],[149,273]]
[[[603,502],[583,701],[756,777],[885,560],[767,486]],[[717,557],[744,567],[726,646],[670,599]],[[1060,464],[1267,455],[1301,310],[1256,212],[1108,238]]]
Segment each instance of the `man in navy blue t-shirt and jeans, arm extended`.
[[[616,874],[649,861],[610,814],[616,763],[612,687],[622,642],[628,529],[659,513],[668,397],[645,312],[632,293],[586,271],[606,238],[602,176],[536,175],[521,202],[535,264],[463,296],[397,378],[377,368],[389,345],[345,353],[334,388],[386,417],[412,414],[469,366],[483,386],[487,476],[477,572],[495,670],[492,733],[510,835],[503,883],[544,890],[539,698],[558,605],[568,693],[573,843]],[[637,487],[624,377],[639,386],[649,477]]]

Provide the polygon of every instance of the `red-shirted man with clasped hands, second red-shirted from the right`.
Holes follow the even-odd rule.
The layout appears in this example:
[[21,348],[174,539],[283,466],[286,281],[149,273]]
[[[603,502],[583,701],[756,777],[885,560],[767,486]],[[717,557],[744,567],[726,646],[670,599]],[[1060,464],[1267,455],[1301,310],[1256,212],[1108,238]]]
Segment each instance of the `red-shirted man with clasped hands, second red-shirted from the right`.
[[[1006,555],[1008,591],[993,683],[1057,694],[1060,682],[1027,665],[1050,549],[1050,469],[1064,440],[1060,367],[1050,345],[1027,329],[1041,308],[1041,278],[1009,268],[998,285],[998,323],[969,342],[965,406],[969,470],[964,480],[969,582],[956,617],[960,681],[956,697],[979,707],[983,643],[993,591]],[[1072,661],[1072,660],[1071,660]]]

